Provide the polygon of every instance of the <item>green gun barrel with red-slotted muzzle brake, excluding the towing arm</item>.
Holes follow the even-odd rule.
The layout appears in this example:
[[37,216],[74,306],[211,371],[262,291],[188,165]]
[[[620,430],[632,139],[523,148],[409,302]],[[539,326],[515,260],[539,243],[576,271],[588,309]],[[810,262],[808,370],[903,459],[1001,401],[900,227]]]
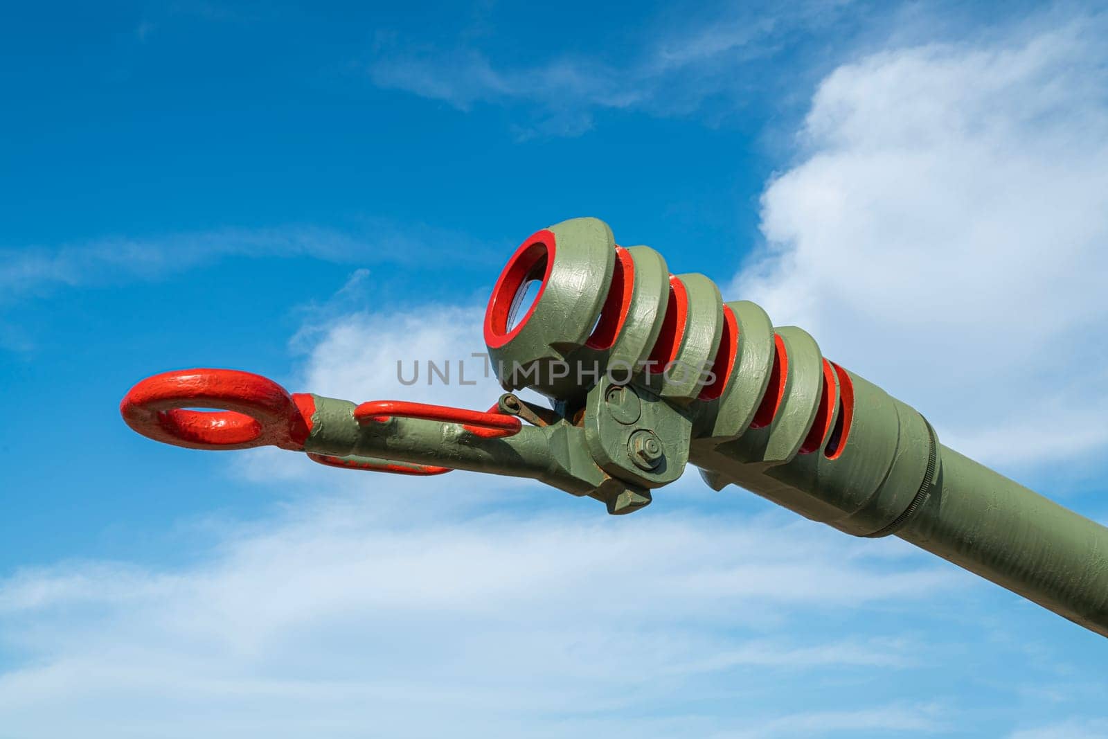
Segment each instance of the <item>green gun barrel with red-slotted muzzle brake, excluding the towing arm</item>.
[[[529,281],[540,283],[530,307]],[[824,359],[806,331],[724,304],[702,275],[669,275],[648,247],[617,247],[603,222],[524,242],[493,290],[485,340],[506,389],[531,387],[567,414],[617,415],[633,392],[656,409],[671,464],[691,462],[717,490],[746,487],[855,536],[900,536],[1108,636],[1108,528],[942,445],[915,409]],[[617,373],[623,400],[605,413]],[[589,388],[582,374],[602,379]],[[602,466],[636,479],[625,463]],[[637,482],[657,486],[642,471]]]

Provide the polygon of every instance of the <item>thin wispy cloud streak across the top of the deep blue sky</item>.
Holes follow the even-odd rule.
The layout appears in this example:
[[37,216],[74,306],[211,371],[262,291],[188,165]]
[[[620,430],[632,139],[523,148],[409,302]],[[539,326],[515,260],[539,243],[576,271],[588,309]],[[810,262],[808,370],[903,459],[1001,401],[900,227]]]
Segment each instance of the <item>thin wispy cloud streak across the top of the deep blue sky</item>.
[[[630,45],[614,53],[599,43],[589,53],[564,50],[534,54],[543,61],[520,64],[463,42],[442,47],[382,40],[369,73],[388,89],[441,100],[460,110],[476,103],[524,104],[521,135],[578,135],[597,110],[643,110],[683,115],[709,97],[741,99],[758,84],[751,65],[759,60],[802,53],[813,29],[823,32],[843,19],[834,1],[788,6],[745,3],[702,7],[679,19],[657,19]],[[599,41],[602,29],[594,29]]]

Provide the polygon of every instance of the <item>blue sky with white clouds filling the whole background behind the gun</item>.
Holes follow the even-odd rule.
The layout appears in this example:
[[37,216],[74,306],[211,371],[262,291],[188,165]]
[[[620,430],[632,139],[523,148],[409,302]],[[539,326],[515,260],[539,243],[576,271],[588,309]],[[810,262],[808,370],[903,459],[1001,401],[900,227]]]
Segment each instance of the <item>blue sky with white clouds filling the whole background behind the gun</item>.
[[[1100,4],[112,3],[0,25],[0,737],[1108,737],[1108,647],[696,475],[537,484],[135,435],[136,380],[482,407],[574,216],[1108,520]],[[626,563],[634,562],[633,566]]]

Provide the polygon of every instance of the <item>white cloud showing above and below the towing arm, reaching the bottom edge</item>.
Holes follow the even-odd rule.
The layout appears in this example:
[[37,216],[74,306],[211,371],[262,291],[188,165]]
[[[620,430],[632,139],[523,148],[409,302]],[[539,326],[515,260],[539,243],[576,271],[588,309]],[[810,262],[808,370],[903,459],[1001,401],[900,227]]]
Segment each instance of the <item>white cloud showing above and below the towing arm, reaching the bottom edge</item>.
[[[463,351],[478,312],[332,319],[301,338],[302,389],[393,397],[390,352]],[[478,407],[466,398],[451,400]],[[617,519],[540,485],[274,454],[256,472],[288,493],[281,511],[205,527],[222,533],[193,564],[0,582],[0,725],[30,739],[789,737],[935,732],[956,709],[888,686],[948,669],[936,663],[962,637],[923,622],[948,623],[954,603],[971,617],[988,586],[900,542],[719,499],[705,512],[669,489],[664,515]],[[276,458],[307,474],[277,474]],[[818,690],[781,695],[797,682]]]

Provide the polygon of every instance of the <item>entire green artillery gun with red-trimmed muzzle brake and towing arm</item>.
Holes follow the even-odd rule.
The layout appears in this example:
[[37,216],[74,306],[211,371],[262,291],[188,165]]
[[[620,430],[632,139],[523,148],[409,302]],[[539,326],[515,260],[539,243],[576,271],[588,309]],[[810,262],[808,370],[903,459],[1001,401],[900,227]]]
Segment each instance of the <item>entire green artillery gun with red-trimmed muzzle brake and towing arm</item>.
[[[825,360],[801,328],[724,304],[702,275],[669,275],[649,247],[617,247],[596,218],[523,243],[484,337],[504,389],[531,388],[551,409],[513,394],[489,413],[356,406],[229,370],[150,378],[121,409],[167,443],[531,478],[615,514],[691,463],[716,490],[745,487],[854,536],[900,536],[1108,636],[1108,528],[944,447],[917,410]],[[197,407],[230,410],[184,410]]]

